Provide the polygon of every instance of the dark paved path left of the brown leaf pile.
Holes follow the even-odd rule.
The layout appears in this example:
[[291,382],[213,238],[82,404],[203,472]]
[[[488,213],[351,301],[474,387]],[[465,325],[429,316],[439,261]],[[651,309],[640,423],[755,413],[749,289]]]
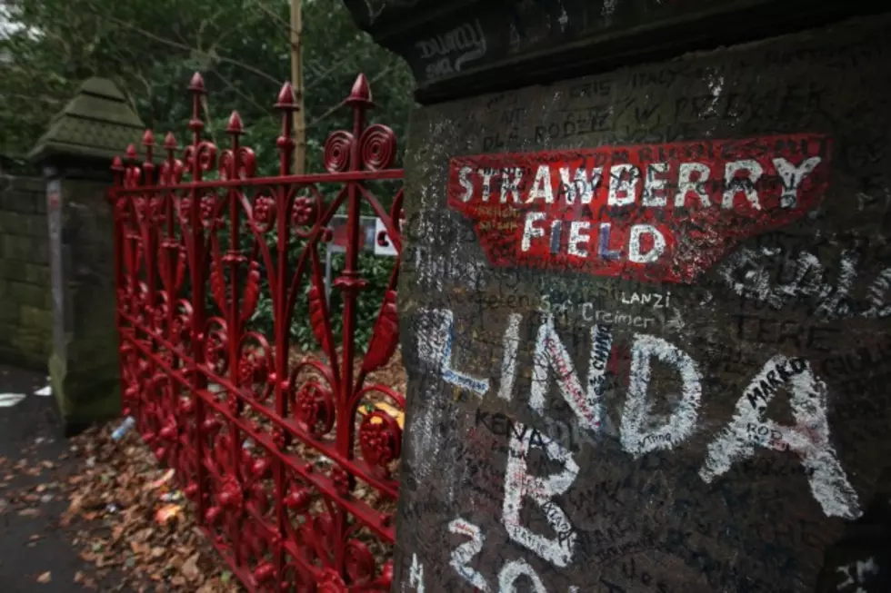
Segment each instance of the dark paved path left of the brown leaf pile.
[[[68,502],[54,484],[76,469],[55,399],[34,395],[45,376],[0,366],[0,393],[25,393],[10,408],[0,408],[0,591],[3,593],[85,593],[75,574],[92,570],[78,558],[71,534],[59,525]],[[23,463],[24,461],[24,463]],[[19,465],[21,469],[16,469]],[[39,491],[38,491],[39,490]],[[47,579],[49,582],[41,582]],[[43,578],[41,578],[43,575]],[[112,580],[112,579],[109,579]],[[119,590],[114,582],[100,591]]]

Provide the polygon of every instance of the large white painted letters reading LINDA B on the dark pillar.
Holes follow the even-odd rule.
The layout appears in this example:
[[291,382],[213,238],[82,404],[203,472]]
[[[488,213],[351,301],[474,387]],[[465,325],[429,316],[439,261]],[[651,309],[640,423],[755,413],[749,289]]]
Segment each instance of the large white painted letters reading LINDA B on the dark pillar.
[[[443,352],[447,353],[448,349],[443,345],[436,346],[439,342],[447,341],[445,336],[451,331],[451,311],[447,311],[448,315],[443,311],[445,310],[434,310],[440,316],[437,318],[440,321],[435,325],[438,328],[436,335],[439,337],[432,341],[425,340],[424,344],[426,349],[440,352],[433,356],[438,361],[434,365],[435,369],[444,376],[448,374],[454,377],[457,371],[452,370],[450,364],[442,364],[447,358]],[[529,394],[530,408],[545,417],[550,371],[556,371],[558,389],[575,411],[579,426],[596,433],[600,430],[600,425],[594,422],[594,419],[606,417],[606,412],[602,410],[604,373],[612,348],[612,333],[606,326],[595,325],[591,328],[589,377],[586,390],[583,390],[569,352],[556,333],[553,314],[540,312],[544,322],[539,326],[537,333],[533,381]],[[505,383],[499,390],[499,396],[506,400],[512,397],[513,381],[516,376],[515,347],[519,339],[520,322],[521,318],[516,313],[513,314],[505,332],[504,359],[501,368],[508,371],[508,377],[502,377]],[[427,354],[422,356],[422,359],[430,356]],[[655,418],[651,413],[653,409],[651,398],[654,396],[649,394],[648,390],[653,361],[659,361],[673,368],[680,378],[680,392],[676,395],[674,409],[667,418]],[[481,380],[471,378],[450,382],[464,386],[474,384],[474,381]],[[510,388],[506,387],[508,381]],[[687,440],[696,430],[698,408],[702,398],[702,382],[703,378],[698,371],[696,361],[685,351],[656,336],[637,334],[632,343],[628,392],[620,422],[620,441],[623,449],[635,457],[640,457],[654,450],[672,450]],[[774,397],[778,387],[783,385],[787,385],[793,394],[791,404],[796,413],[796,425],[793,427],[781,426],[773,420],[764,418],[767,403]],[[486,390],[476,392],[482,395]],[[666,397],[666,394],[660,397]],[[756,446],[791,451],[802,458],[802,463],[807,469],[810,490],[827,516],[849,519],[859,517],[861,509],[856,491],[847,480],[845,471],[837,460],[836,451],[829,441],[826,419],[827,398],[826,384],[815,377],[809,363],[802,359],[775,357],[752,381],[737,403],[733,419],[708,446],[705,465],[699,472],[700,477],[706,482],[713,481],[717,476],[726,473],[737,461],[755,455]],[[516,424],[516,427],[521,425]],[[569,482],[562,480],[569,479],[572,471],[577,472],[575,461],[556,442],[545,440],[537,430],[522,427],[511,442],[508,460],[512,471],[508,472],[505,483],[506,486],[515,485],[511,486],[514,489],[516,486],[525,485],[526,490],[516,489],[516,492],[510,495],[514,497],[513,499],[506,498],[506,517],[515,519],[518,517],[519,506],[516,497],[522,498],[522,495],[517,492],[528,492],[528,482],[521,476],[526,467],[525,451],[530,444],[546,450],[552,459],[562,460],[566,457],[565,472],[556,476],[554,478],[556,481],[545,481],[537,486],[539,490],[532,496],[546,510],[546,514],[549,509],[551,510],[553,514],[549,520],[552,521],[552,526],[563,525],[562,521],[566,519],[565,513],[556,505],[550,507],[552,503],[548,502],[547,497],[556,496],[558,490],[564,486],[568,488],[572,480]],[[509,529],[513,529],[514,535],[519,539],[526,538],[532,541],[524,535],[524,528],[519,527],[518,519],[515,519],[508,521],[511,525]],[[568,523],[566,525],[568,526]],[[567,531],[563,538],[564,543],[573,537]],[[557,552],[556,549],[549,549],[547,546],[539,548],[545,550],[543,553],[549,555],[549,558],[556,558],[555,563],[566,557],[566,550]]]

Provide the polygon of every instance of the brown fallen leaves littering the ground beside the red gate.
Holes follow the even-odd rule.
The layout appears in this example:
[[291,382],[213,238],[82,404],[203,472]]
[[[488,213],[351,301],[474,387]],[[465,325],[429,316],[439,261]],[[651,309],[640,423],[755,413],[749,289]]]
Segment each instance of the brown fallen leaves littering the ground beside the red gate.
[[[373,381],[405,393],[400,357],[375,372]],[[61,524],[92,569],[80,581],[97,587],[110,571],[123,574],[125,590],[228,593],[244,590],[225,569],[215,550],[196,527],[194,509],[176,489],[176,481],[160,467],[151,450],[131,430],[122,440],[111,438],[120,421],[95,427],[69,441],[77,468],[59,485],[68,499]],[[307,458],[312,457],[306,451]],[[375,492],[356,492],[380,506]],[[392,503],[388,508],[393,511]],[[372,542],[369,542],[372,543]],[[373,546],[378,566],[388,550]]]

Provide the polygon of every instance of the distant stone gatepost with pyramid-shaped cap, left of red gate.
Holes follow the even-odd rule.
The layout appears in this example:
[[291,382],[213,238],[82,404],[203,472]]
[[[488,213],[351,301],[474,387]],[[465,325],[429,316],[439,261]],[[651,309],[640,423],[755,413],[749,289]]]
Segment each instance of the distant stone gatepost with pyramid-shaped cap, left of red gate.
[[65,432],[120,410],[111,160],[144,126],[115,84],[91,78],[30,159],[44,171],[53,304],[50,379]]

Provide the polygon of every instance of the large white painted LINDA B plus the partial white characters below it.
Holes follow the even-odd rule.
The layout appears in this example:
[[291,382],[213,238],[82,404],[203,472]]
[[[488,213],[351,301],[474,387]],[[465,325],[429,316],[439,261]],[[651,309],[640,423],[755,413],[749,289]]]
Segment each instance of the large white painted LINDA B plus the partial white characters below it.
[[[530,407],[544,416],[545,399],[551,387],[550,374],[555,371],[558,390],[575,411],[580,424],[584,421],[590,432],[596,432],[599,422],[595,424],[591,419],[606,418],[606,411],[602,410],[603,391],[606,367],[613,348],[612,331],[603,324],[591,327],[587,389],[582,390],[582,382],[566,345],[556,332],[553,314],[540,312],[543,322],[536,337]],[[428,331],[427,339],[418,342],[422,360],[432,364],[434,371],[444,378],[451,376],[455,379],[456,375],[464,377],[449,381],[458,386],[466,387],[475,384],[474,381],[481,381],[466,379],[466,374],[451,368],[449,341],[454,328],[453,313],[432,310],[425,311],[425,315],[427,319],[434,320],[429,327],[435,330],[432,333]],[[498,390],[498,397],[502,400],[513,397],[522,321],[518,313],[511,313],[507,319],[501,362],[503,377]],[[675,344],[648,334],[634,336],[630,358],[628,391],[620,419],[622,447],[636,458],[655,450],[672,450],[688,440],[696,430],[703,384],[698,365]],[[649,392],[656,364],[664,365],[666,371],[677,374],[678,393]],[[487,387],[486,382],[486,389],[476,392],[485,394]],[[771,401],[784,389],[790,394],[795,419],[792,426],[781,425],[766,417]],[[671,410],[666,416],[660,417],[654,413],[656,397],[671,402]],[[734,464],[755,456],[758,448],[794,453],[806,469],[804,473],[809,489],[826,516],[858,518],[862,511],[856,490],[847,479],[830,442],[827,399],[826,384],[816,378],[807,361],[784,355],[774,356],[749,382],[736,402],[733,418],[707,446],[699,476],[706,483],[711,483],[726,474]],[[511,421],[503,481],[502,524],[509,539],[535,552],[536,556],[554,567],[567,568],[575,558],[579,534],[557,500],[572,488],[580,468],[572,452],[556,440],[526,424]],[[588,442],[596,446],[596,442]],[[551,469],[547,470],[546,475],[541,475],[541,470],[535,473],[530,470],[528,460],[534,449],[543,452],[549,462],[537,464],[539,467],[550,465]],[[546,518],[549,527],[546,533],[533,531],[523,524],[521,509],[529,503],[536,505]],[[486,536],[482,529],[461,518],[451,521],[448,529],[453,535],[467,538],[451,551],[452,568],[476,590],[483,593],[494,591],[482,573],[472,566],[474,558],[485,546]],[[410,580],[423,593],[423,567],[417,563],[416,557],[413,558]],[[536,593],[547,590],[545,581],[526,560],[507,561],[498,572],[498,593],[516,593],[520,582],[524,583],[524,590],[535,590]],[[578,588],[569,588],[570,593],[576,591]]]

